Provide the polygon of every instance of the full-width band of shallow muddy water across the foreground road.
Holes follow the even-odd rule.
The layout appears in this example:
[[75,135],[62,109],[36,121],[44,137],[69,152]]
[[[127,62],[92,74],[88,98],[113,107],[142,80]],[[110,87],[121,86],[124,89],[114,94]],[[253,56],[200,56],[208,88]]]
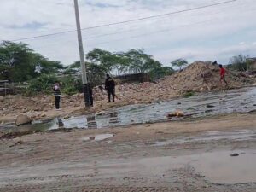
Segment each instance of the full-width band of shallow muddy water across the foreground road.
[[[237,153],[239,156],[231,157]],[[93,160],[83,162],[62,162],[35,166],[13,166],[0,172],[0,184],[19,182],[29,177],[52,177],[63,175],[95,174],[96,177],[161,177],[170,181],[179,168],[192,166],[195,173],[205,176],[211,183],[235,184],[256,182],[256,151],[218,151],[183,156],[160,156],[143,159]],[[99,174],[100,173],[100,174]],[[166,175],[166,177],[162,177]],[[189,175],[189,174],[188,174]],[[180,175],[182,176],[182,175]],[[195,177],[194,179],[198,179]],[[30,182],[30,180],[28,179]],[[26,182],[26,180],[25,180]]]

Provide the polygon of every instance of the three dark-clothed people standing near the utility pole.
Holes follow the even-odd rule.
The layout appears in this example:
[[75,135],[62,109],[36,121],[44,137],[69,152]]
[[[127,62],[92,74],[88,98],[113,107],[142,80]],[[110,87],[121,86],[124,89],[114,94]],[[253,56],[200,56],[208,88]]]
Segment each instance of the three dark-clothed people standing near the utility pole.
[[[105,80],[105,90],[108,93],[108,102],[111,102],[115,100],[115,82],[112,77],[110,77],[109,74],[106,75],[106,80]],[[90,82],[88,81],[87,83],[88,87],[88,93],[89,93],[89,98],[90,98],[90,106],[93,107],[93,92],[92,92],[92,86]],[[60,110],[60,103],[61,103],[61,88],[60,88],[60,83],[58,81],[55,82],[54,87],[53,87],[53,92],[55,96],[55,108],[56,110]],[[112,100],[111,100],[112,97]]]

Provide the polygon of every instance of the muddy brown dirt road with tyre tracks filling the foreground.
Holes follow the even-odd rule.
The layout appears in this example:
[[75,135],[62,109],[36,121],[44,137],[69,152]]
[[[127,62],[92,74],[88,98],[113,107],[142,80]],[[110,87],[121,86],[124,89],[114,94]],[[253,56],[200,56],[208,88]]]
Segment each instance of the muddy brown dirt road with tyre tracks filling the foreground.
[[0,191],[256,191],[255,117],[3,139]]

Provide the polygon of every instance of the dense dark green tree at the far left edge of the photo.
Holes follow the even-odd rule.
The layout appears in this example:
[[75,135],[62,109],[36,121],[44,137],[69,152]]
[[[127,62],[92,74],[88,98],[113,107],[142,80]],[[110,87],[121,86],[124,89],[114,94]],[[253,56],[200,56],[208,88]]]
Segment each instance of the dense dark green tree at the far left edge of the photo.
[[60,62],[49,61],[34,53],[27,44],[3,41],[0,44],[0,79],[24,82],[43,73],[56,73],[63,68]]

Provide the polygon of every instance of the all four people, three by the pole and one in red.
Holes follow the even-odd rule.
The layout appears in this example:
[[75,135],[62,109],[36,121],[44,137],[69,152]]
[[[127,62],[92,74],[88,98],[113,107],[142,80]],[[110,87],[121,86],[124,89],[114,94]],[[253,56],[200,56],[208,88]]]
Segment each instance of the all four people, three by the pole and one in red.
[[[217,61],[212,62],[213,65],[217,65]],[[219,67],[219,74],[220,74],[220,83],[224,81],[226,86],[228,86],[228,83],[225,79],[225,73],[226,70],[222,65],[218,65]],[[93,93],[92,93],[92,86],[90,82],[87,84],[88,86],[88,91],[89,91],[89,97],[90,97],[90,106],[93,107]],[[112,96],[112,101],[114,102],[114,99],[116,97],[115,95],[115,82],[112,77],[110,77],[109,74],[107,74],[107,78],[105,80],[105,90],[108,93],[108,102],[111,102],[111,96]],[[54,95],[55,95],[55,108],[56,110],[60,110],[60,102],[61,102],[61,89],[60,89],[60,84],[59,82],[55,82],[55,85],[53,87]]]

